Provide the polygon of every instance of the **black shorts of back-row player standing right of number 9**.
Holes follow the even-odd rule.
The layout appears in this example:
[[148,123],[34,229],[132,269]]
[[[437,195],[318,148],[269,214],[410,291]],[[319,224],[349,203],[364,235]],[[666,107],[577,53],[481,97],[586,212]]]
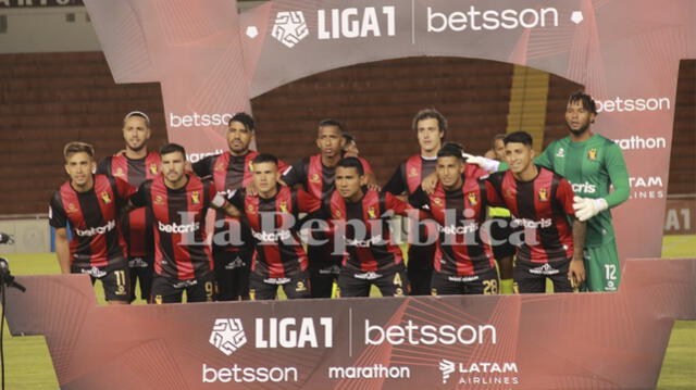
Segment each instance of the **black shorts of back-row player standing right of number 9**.
[[249,271],[252,256],[252,247],[243,247],[234,252],[213,248],[216,301],[249,300]]

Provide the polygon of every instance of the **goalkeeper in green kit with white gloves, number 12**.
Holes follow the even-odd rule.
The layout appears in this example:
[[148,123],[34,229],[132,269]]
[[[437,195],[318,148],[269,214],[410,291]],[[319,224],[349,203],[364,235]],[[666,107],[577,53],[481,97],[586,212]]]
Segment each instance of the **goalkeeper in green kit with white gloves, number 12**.
[[[575,215],[580,221],[587,221],[587,289],[616,291],[621,266],[609,209],[629,199],[629,173],[619,146],[592,133],[596,116],[595,101],[588,95],[572,95],[566,108],[570,135],[549,144],[534,162],[566,177],[573,186]],[[502,168],[480,156],[471,156],[467,162],[487,171]],[[611,186],[613,191],[609,191]]]

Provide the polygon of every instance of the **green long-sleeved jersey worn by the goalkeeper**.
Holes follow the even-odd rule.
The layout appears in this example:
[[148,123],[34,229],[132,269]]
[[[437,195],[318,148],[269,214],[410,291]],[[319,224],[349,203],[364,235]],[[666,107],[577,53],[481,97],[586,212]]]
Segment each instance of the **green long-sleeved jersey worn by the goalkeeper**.
[[[570,136],[554,141],[535,162],[566,177],[577,197],[604,198],[609,209],[629,199],[629,172],[621,149],[598,134],[582,142],[573,142]],[[613,191],[609,190],[611,186]],[[586,248],[613,239],[609,210],[587,221]]]

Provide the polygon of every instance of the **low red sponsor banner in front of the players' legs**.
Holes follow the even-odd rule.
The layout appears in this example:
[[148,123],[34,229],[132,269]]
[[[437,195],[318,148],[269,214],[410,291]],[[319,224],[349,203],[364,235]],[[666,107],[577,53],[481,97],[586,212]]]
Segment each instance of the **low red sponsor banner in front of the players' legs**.
[[13,335],[46,336],[74,390],[643,389],[657,382],[669,319],[696,319],[695,273],[696,259],[630,260],[611,293],[108,310],[86,275],[20,276],[27,290],[8,290],[5,310]]

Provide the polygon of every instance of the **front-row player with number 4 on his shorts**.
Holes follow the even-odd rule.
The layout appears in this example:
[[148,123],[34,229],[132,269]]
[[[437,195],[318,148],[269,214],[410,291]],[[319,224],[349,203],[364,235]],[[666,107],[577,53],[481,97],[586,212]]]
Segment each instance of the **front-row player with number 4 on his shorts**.
[[372,285],[383,297],[402,297],[408,292],[408,277],[401,250],[390,240],[387,219],[395,213],[405,215],[410,206],[391,193],[368,189],[366,181],[360,160],[340,160],[336,190],[306,218],[331,219],[334,226],[335,249],[344,259],[339,297],[368,297]]

